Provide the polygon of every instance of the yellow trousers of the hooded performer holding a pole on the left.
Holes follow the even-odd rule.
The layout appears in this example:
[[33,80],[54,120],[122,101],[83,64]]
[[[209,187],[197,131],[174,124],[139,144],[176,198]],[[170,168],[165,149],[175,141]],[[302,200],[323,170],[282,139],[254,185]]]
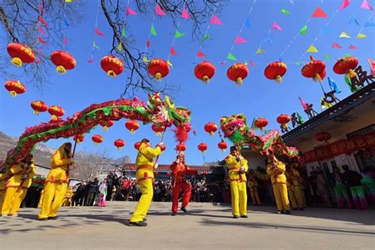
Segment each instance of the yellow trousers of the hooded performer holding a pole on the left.
[[61,206],[66,189],[67,183],[47,182],[44,184],[43,199],[38,218],[48,218],[57,215],[57,210]]

